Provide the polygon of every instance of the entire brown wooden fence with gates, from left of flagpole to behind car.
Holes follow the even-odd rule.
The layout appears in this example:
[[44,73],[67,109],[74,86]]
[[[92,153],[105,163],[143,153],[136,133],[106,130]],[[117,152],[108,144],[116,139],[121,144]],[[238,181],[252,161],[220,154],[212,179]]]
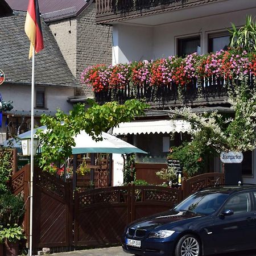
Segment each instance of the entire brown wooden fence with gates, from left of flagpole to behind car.
[[[131,221],[170,209],[185,195],[207,185],[224,182],[223,174],[204,174],[185,181],[183,189],[160,186],[123,186],[73,193],[65,183],[38,168],[34,170],[33,246],[52,251],[78,246],[118,244]],[[13,175],[13,192],[26,202],[24,230],[30,219],[30,165]],[[68,248],[68,249],[67,249]]]

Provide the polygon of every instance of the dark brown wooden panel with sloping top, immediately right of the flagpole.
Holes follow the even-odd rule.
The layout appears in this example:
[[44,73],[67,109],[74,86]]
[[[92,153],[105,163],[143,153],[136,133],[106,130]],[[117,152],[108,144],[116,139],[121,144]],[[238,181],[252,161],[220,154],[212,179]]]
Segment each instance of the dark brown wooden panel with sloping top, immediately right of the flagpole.
[[72,245],[72,183],[65,183],[40,170],[34,171],[34,177],[34,247]]

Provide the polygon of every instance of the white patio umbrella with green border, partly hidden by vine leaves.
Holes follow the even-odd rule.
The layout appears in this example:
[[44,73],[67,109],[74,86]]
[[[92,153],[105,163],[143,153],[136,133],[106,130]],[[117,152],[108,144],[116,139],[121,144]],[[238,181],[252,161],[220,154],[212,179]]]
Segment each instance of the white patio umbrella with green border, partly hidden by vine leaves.
[[[46,126],[41,126],[33,130],[33,133],[36,133],[36,130],[47,130]],[[30,138],[30,131],[22,133],[19,135],[19,138]],[[77,134],[75,137],[75,146],[72,147],[72,154],[84,154],[84,153],[115,153],[115,154],[130,154],[130,153],[143,153],[147,152],[139,149],[138,147],[133,146],[130,143],[123,141],[113,135],[102,132],[102,141],[94,141],[93,138],[85,133],[85,131],[80,131],[80,134]],[[13,147],[20,148],[20,142],[15,142],[14,139],[7,140],[3,142],[4,146],[8,146],[8,142],[13,143]]]

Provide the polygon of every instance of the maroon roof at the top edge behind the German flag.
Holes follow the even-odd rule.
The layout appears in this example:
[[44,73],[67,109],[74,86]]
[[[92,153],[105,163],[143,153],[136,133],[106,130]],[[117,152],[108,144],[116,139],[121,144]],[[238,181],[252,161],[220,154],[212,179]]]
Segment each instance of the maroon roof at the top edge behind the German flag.
[[[27,11],[28,0],[6,0],[15,11]],[[38,0],[44,20],[57,20],[77,16],[89,0]],[[45,15],[46,14],[46,15]]]

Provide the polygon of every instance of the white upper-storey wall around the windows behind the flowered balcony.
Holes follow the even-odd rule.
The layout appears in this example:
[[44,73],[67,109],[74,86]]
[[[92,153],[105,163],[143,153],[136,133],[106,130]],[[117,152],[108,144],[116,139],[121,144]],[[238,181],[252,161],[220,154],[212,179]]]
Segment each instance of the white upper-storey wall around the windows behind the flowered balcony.
[[[161,26],[113,25],[113,64],[134,60],[151,60],[176,54],[176,39],[201,35],[201,53],[207,52],[209,32],[227,31],[230,22],[245,24],[246,15],[256,14],[256,8],[203,18],[173,22]],[[115,59],[114,59],[115,56]]]

